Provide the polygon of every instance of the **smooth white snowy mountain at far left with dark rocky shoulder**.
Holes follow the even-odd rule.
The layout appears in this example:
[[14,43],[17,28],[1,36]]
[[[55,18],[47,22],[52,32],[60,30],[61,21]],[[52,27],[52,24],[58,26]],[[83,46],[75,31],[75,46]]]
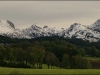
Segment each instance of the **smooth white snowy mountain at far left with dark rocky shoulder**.
[[30,38],[21,30],[15,29],[14,24],[9,20],[0,20],[0,35],[11,38]]

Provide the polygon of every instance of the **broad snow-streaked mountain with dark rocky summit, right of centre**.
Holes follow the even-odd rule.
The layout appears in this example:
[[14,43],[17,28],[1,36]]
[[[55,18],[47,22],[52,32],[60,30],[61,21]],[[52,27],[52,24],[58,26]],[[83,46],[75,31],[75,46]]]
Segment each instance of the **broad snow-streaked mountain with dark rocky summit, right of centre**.
[[100,33],[93,31],[85,25],[74,23],[63,34],[64,38],[78,38],[89,40],[90,42],[97,42],[100,39]]

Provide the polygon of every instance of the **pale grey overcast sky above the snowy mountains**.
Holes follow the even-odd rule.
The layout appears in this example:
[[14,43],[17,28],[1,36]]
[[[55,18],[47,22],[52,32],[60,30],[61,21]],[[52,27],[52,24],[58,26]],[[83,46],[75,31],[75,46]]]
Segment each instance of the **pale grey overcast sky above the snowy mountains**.
[[16,28],[32,24],[68,28],[73,23],[91,25],[100,18],[100,1],[0,1],[0,19]]

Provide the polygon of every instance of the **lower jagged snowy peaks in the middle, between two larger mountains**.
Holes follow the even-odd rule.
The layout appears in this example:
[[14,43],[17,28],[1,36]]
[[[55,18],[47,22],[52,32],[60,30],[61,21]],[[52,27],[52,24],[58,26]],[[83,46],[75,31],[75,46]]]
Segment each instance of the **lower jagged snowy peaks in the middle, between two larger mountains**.
[[33,24],[31,27],[23,29],[23,33],[30,36],[31,38],[44,37],[44,36],[53,36],[58,32],[56,28],[50,28],[48,26],[38,27],[36,24]]

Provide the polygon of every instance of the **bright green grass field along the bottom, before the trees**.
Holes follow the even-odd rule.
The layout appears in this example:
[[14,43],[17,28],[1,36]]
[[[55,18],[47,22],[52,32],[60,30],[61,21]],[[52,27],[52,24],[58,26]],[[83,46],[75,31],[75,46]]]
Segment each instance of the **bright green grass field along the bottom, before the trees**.
[[20,74],[34,75],[100,75],[99,69],[22,69],[22,68],[4,68],[0,67],[0,74],[10,74],[12,71],[18,71]]

